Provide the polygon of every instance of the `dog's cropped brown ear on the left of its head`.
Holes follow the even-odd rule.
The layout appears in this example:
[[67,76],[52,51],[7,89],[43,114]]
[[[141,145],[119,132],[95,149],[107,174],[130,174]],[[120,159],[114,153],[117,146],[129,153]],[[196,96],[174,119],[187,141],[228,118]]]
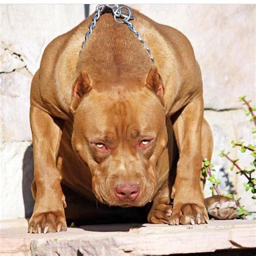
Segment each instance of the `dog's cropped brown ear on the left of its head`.
[[91,91],[91,79],[85,70],[79,73],[75,83],[73,84],[73,95],[71,103],[71,112],[75,112],[77,107],[85,95],[85,93]]

